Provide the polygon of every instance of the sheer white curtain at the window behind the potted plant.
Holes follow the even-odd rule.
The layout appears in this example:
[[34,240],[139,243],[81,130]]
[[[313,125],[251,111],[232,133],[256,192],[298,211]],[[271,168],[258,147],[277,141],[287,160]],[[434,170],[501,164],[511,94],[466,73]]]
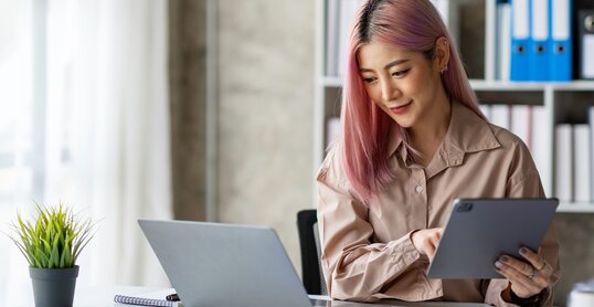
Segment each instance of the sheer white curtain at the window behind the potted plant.
[[[11,179],[18,176],[26,179],[26,171],[19,169],[19,159],[23,160],[21,165],[25,167],[21,168],[24,170],[28,169],[26,157],[42,159],[41,163],[31,163],[32,172],[42,174],[42,199],[36,200],[43,203],[62,201],[75,207],[83,215],[102,220],[95,239],[78,262],[77,287],[167,285],[167,278],[136,222],[138,218],[172,216],[167,1],[40,2],[47,3],[43,105],[31,103],[31,97],[18,97],[14,104],[32,105],[17,109],[30,121],[35,121],[31,118],[42,118],[43,126],[35,123],[26,126],[25,123],[20,135],[15,129],[9,131],[12,138],[7,139],[12,139],[11,144],[0,142],[3,146],[0,150],[14,157],[12,165],[6,163],[8,169],[13,169]],[[31,3],[28,6],[35,6],[35,2]],[[25,12],[23,23],[30,19],[26,18],[29,7],[25,7],[21,8]],[[31,33],[34,31],[22,34],[31,38]],[[31,40],[34,42],[35,36]],[[26,52],[17,54],[26,64],[30,62],[26,54],[32,53],[26,40],[22,49]],[[0,61],[0,65],[10,62]],[[17,71],[4,67],[0,76],[10,77]],[[31,84],[38,72],[32,71],[33,75],[22,77],[23,84]],[[11,110],[11,105],[2,103],[0,114]],[[35,117],[35,113],[41,117]],[[28,139],[28,127],[31,135],[42,136],[29,137],[32,146],[36,141],[43,146],[39,152],[29,156],[25,152],[19,158],[22,148],[26,147],[20,142]],[[34,166],[40,167],[35,170]],[[14,216],[17,208],[21,211],[31,208],[32,199],[36,197],[33,195],[33,181],[20,180],[14,183],[18,187],[10,188],[0,186],[0,189],[7,189],[10,199],[4,204],[9,218]],[[28,295],[31,286],[23,256],[14,246],[2,244],[7,245],[7,240],[0,241],[0,247],[11,251],[3,262],[9,265],[1,268],[7,271],[1,273],[7,274],[0,275],[0,295],[3,294],[0,305],[6,305],[2,298],[8,303],[11,297]],[[9,276],[11,279],[7,283]]]

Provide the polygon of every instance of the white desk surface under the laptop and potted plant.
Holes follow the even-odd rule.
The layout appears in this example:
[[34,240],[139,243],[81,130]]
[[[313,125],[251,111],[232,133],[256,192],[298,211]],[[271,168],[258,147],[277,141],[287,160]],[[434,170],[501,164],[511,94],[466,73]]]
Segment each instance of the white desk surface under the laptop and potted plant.
[[[74,297],[74,307],[115,307],[115,306],[134,306],[121,305],[114,303],[114,296],[120,295],[141,295],[165,288],[156,287],[129,287],[129,286],[97,286],[87,288],[77,288]],[[310,296],[315,301],[315,306],[319,307],[393,307],[393,306],[423,306],[423,307],[486,307],[487,304],[471,304],[471,303],[441,303],[441,301],[423,301],[423,303],[409,303],[409,301],[386,301],[382,304],[360,304],[340,300],[326,300],[321,296]],[[29,297],[25,301],[22,301],[20,307],[34,307],[33,297]],[[252,306],[246,306],[252,307]],[[282,306],[279,306],[282,307]]]

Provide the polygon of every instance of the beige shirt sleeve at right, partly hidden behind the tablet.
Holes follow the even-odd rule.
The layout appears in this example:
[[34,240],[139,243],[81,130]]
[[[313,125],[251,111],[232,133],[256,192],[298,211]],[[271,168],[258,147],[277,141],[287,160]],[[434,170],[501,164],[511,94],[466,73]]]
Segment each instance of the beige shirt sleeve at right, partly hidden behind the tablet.
[[[506,198],[545,198],[532,157],[528,148],[520,142],[513,150],[512,165],[510,167],[510,177],[506,187]],[[559,237],[554,224],[549,225],[544,235],[540,254],[553,268],[551,280],[549,283],[549,293],[551,294],[545,306],[552,305],[553,286],[560,277],[561,266],[559,264]],[[485,296],[485,303],[495,306],[516,306],[501,298],[501,293],[509,286],[507,279],[491,279]]]

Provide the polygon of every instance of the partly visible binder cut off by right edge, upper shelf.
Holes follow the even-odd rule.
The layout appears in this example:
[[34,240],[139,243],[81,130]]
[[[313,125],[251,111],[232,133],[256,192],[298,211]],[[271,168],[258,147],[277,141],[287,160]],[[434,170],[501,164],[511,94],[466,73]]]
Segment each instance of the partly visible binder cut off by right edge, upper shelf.
[[580,78],[594,78],[594,10],[579,12]]

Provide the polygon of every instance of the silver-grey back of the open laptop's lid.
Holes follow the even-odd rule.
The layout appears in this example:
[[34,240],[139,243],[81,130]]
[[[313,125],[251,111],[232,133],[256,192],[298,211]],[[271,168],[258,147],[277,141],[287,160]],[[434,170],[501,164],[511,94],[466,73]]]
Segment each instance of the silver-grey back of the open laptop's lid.
[[275,231],[138,220],[184,306],[311,306]]

